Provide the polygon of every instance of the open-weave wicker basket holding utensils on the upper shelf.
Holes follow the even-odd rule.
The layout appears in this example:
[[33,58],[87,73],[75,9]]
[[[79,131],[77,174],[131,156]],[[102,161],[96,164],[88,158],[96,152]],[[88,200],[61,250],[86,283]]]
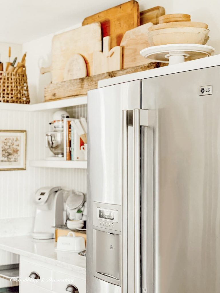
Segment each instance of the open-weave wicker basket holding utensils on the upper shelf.
[[30,103],[28,81],[25,72],[0,71],[0,102]]

